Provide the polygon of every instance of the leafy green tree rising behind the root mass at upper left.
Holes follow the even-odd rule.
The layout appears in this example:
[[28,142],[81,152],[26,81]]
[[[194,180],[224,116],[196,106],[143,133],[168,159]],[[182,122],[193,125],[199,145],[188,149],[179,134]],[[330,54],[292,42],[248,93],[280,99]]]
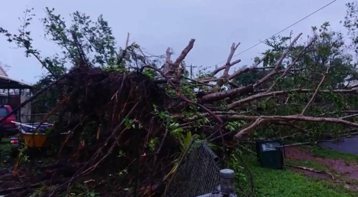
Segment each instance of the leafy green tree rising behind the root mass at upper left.
[[[44,36],[62,51],[51,57],[42,57],[41,51],[33,46],[29,30],[35,17],[32,10],[33,8],[24,11],[24,17],[21,19],[23,24],[18,29],[18,33],[10,33],[1,27],[0,33],[7,37],[7,41],[23,48],[26,57],[35,57],[48,71],[48,74],[43,75],[34,85],[34,92],[50,84],[73,66],[89,64],[89,66],[125,73],[143,64],[151,65],[152,63],[145,62],[149,57],[155,57],[154,62],[159,61],[157,56],[143,52],[136,43],[128,45],[125,50],[118,47],[112,28],[102,15],[96,21],[92,21],[89,16],[76,11],[71,14],[72,22],[68,24],[61,15],[54,13],[54,8],[48,7],[45,9],[45,17],[40,20],[43,24]],[[51,90],[36,99],[33,102],[33,112],[48,112],[61,98],[60,92]]]

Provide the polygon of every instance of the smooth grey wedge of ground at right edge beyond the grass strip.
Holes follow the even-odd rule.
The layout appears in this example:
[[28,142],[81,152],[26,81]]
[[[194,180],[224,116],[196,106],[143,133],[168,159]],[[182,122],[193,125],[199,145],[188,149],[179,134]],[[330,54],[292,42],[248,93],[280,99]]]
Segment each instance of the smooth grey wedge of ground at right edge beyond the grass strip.
[[335,142],[318,142],[317,145],[321,148],[358,155],[358,136],[344,138]]

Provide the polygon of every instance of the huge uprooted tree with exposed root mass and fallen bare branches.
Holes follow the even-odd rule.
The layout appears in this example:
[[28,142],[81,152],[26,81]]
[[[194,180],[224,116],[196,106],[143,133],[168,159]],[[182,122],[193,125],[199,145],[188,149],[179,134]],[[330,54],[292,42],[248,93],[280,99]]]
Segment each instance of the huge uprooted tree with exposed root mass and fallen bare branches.
[[[25,11],[19,33],[0,33],[48,71],[31,100],[39,111],[59,114],[53,144],[58,161],[74,164],[74,173],[47,195],[99,169],[119,170],[123,187],[116,194],[163,192],[153,186],[170,179],[192,139],[222,147],[224,156],[228,147],[256,138],[318,140],[358,128],[358,73],[343,35],[328,23],[313,27],[304,44],[302,33],[267,40],[262,57],[234,72],[240,60],[233,43],[222,66],[188,78],[184,60],[195,39],[176,59],[170,48],[153,56],[130,44],[129,34],[118,48],[102,16],[91,21],[75,12],[68,26],[47,8],[45,36],[63,52],[41,57],[28,30],[33,16]],[[64,131],[71,134],[61,141]],[[65,150],[67,144],[73,149]]]

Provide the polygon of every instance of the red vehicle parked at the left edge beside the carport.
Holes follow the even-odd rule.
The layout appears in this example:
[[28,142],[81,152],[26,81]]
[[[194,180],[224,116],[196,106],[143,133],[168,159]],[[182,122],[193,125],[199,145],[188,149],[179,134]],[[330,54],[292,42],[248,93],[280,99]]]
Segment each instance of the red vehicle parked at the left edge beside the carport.
[[[10,105],[0,105],[0,120],[3,119],[7,114],[12,111]],[[10,117],[6,118],[0,124],[0,141],[3,136],[9,136],[16,134],[18,132],[15,123],[11,121],[16,121],[15,115],[12,114]]]

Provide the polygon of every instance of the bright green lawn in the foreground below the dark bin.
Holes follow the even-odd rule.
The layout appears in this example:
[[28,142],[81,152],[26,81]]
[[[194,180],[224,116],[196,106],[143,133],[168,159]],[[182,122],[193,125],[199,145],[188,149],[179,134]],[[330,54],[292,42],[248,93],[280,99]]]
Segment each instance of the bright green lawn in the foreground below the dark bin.
[[[256,157],[251,155],[244,155],[243,159],[253,174],[256,197],[358,196],[357,192],[349,190],[343,185],[333,184],[328,181],[316,178],[309,178],[304,175],[295,173],[290,169],[276,170],[263,168],[257,162]],[[244,194],[248,194],[250,191],[249,183],[247,181],[248,175],[242,166],[238,164],[238,161],[239,160],[233,156],[233,159],[230,162],[230,167],[233,168],[237,174],[236,185],[238,185],[239,188],[244,191]],[[314,163],[309,162],[307,164],[318,167],[318,165]]]

